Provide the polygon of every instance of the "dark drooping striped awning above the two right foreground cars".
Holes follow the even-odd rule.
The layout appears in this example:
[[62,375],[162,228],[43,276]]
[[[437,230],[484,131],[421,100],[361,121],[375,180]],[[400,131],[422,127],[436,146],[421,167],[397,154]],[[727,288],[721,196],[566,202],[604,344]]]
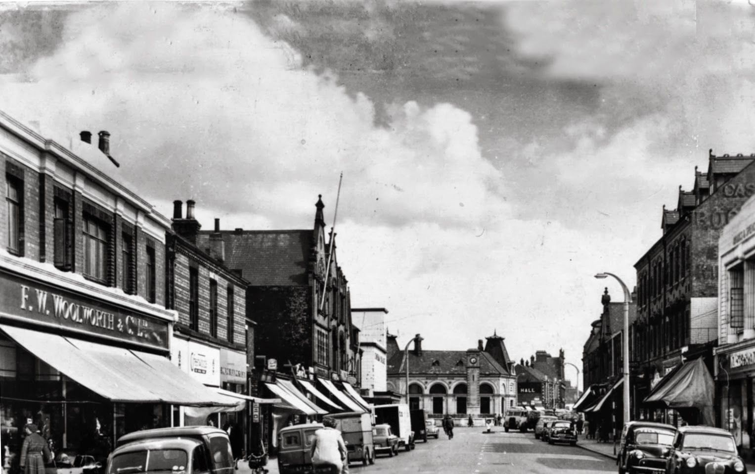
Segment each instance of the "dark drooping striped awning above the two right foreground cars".
[[643,403],[667,408],[698,408],[704,423],[713,423],[713,376],[703,358],[688,361],[667,373]]

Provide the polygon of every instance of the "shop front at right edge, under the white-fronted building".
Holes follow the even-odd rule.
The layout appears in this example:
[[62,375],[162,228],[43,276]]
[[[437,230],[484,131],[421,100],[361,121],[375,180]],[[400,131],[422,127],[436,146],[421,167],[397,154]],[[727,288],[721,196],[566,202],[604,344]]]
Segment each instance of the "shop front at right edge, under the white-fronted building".
[[716,415],[720,426],[734,435],[742,455],[752,459],[755,339],[719,348],[716,368],[716,392],[720,399]]

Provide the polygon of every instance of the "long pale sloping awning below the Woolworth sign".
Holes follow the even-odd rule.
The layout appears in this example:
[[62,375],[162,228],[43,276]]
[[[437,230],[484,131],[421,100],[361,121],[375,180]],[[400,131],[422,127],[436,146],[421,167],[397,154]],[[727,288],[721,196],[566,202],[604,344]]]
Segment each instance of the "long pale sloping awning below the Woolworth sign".
[[238,404],[159,355],[5,324],[0,329],[37,358],[112,401],[197,407]]

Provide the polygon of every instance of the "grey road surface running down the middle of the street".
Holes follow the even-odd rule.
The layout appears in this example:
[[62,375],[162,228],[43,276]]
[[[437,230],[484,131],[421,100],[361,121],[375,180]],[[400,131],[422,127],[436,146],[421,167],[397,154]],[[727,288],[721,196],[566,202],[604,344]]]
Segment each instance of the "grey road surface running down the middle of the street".
[[[279,474],[277,461],[271,459],[267,469]],[[239,463],[238,474],[251,474],[248,466]],[[616,472],[615,462],[602,453],[585,451],[569,445],[548,445],[536,440],[532,432],[504,432],[492,429],[485,433],[480,427],[457,427],[454,438],[441,434],[439,439],[417,443],[413,451],[398,456],[377,457],[374,465],[352,464],[350,474],[390,474],[421,472],[435,474],[608,474]]]

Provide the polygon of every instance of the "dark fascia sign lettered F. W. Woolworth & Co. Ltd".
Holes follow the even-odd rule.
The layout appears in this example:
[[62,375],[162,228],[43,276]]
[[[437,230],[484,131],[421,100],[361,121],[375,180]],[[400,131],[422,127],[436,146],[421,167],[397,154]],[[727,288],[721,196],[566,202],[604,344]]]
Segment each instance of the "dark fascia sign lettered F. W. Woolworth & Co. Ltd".
[[3,274],[0,311],[93,335],[168,348],[168,323],[46,283]]

